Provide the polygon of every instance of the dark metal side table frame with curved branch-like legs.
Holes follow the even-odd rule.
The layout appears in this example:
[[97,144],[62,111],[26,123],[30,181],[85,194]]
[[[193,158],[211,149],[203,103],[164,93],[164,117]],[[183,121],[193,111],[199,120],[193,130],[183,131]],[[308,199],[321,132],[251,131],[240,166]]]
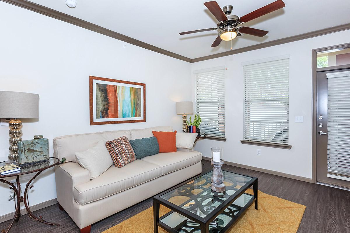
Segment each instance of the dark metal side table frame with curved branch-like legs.
[[[54,158],[54,157],[50,157],[50,158]],[[59,226],[59,224],[56,224],[56,223],[49,223],[47,221],[45,221],[42,216],[39,216],[39,218],[37,218],[31,211],[30,211],[30,206],[29,206],[29,203],[28,203],[28,190],[33,188],[34,185],[30,185],[31,182],[33,182],[33,180],[41,173],[43,172],[44,170],[50,168],[50,167],[53,167],[53,166],[56,166],[58,163],[59,163],[59,159],[58,158],[55,158],[57,159],[57,162],[48,166],[48,167],[44,167],[44,168],[41,168],[41,169],[34,169],[30,172],[25,172],[25,173],[20,173],[20,174],[17,174],[15,175],[16,173],[14,174],[7,174],[7,175],[3,175],[1,176],[2,178],[6,178],[6,177],[14,177],[16,176],[16,185],[14,183],[11,183],[7,180],[3,180],[0,178],[0,182],[2,183],[5,183],[5,184],[8,184],[10,185],[10,189],[12,189],[14,191],[14,198],[15,198],[15,215],[13,216],[13,219],[12,219],[12,222],[10,223],[10,225],[5,229],[2,229],[1,230],[1,233],[8,233],[13,225],[13,223],[16,221],[18,221],[20,219],[20,216],[22,215],[21,214],[21,203],[24,202],[24,205],[26,207],[26,210],[28,211],[28,214],[30,216],[30,218],[32,219],[35,219],[37,221],[40,221],[41,223],[44,223],[44,224],[48,224],[48,225],[51,225],[51,226]],[[25,175],[25,174],[29,174],[29,173],[34,173],[34,172],[37,172],[29,181],[28,183],[26,184],[26,188],[24,190],[24,193],[23,193],[23,196],[21,196],[21,183],[20,183],[20,175]]]

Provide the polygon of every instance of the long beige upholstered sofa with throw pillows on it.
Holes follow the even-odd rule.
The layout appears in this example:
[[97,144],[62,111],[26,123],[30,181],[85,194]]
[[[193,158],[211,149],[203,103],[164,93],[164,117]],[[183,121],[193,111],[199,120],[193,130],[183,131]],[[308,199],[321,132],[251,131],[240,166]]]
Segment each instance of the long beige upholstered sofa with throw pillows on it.
[[66,162],[55,169],[57,201],[80,228],[90,232],[91,224],[152,197],[202,172],[202,154],[179,148],[159,153],[106,172],[90,180],[89,171],[79,166],[75,152],[86,151],[99,140],[153,137],[152,131],[173,131],[170,126],[139,130],[108,131],[57,137],[54,156]]

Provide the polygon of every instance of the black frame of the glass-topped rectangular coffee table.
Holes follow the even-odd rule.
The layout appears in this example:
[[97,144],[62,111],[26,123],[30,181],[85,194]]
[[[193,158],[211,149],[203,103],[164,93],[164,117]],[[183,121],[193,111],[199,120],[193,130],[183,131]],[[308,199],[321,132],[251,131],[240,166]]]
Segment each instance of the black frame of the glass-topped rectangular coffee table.
[[[211,169],[208,170],[208,172],[210,172],[210,171],[211,171]],[[206,172],[204,174],[207,174],[208,172]],[[232,173],[232,172],[230,172],[230,173]],[[209,213],[204,218],[199,217],[197,214],[192,213],[192,212],[190,212],[190,211],[188,211],[186,209],[183,209],[182,207],[180,207],[178,205],[175,205],[175,204],[173,204],[173,203],[171,203],[171,202],[161,198],[162,195],[167,194],[169,191],[177,189],[177,188],[181,187],[182,185],[187,184],[188,182],[193,181],[193,180],[197,179],[198,177],[201,177],[204,174],[200,174],[198,176],[190,178],[189,180],[184,181],[183,183],[181,183],[181,184],[179,184],[179,185],[177,185],[177,186],[175,186],[173,188],[170,188],[167,191],[164,191],[161,194],[156,195],[155,197],[153,197],[154,233],[158,233],[158,227],[159,226],[162,227],[167,232],[179,233],[178,231],[174,230],[172,227],[170,227],[170,226],[166,225],[165,223],[161,222],[161,220],[163,218],[167,217],[169,214],[172,214],[173,212],[177,212],[177,213],[183,215],[184,217],[187,217],[187,218],[195,221],[196,223],[200,224],[200,226],[201,226],[201,233],[209,233],[209,223],[211,223],[212,220],[214,220],[227,207],[229,207],[233,202],[235,202],[236,199],[238,197],[240,197],[242,194],[244,194],[244,192],[247,191],[251,186],[253,186],[253,194],[254,195],[250,195],[250,194],[246,194],[246,195],[253,196],[253,199],[248,201],[248,203],[245,204],[240,209],[240,211],[229,221],[228,224],[226,224],[226,226],[220,231],[220,233],[224,233],[227,230],[229,230],[230,227],[232,226],[232,224],[235,223],[242,216],[242,214],[247,211],[247,209],[253,204],[253,202],[255,203],[255,210],[258,209],[258,178],[250,177],[250,176],[246,176],[246,175],[242,175],[242,174],[238,174],[238,173],[235,173],[235,174],[246,176],[246,177],[250,177],[252,179],[250,181],[248,181],[246,184],[244,184],[240,189],[238,189],[237,192],[235,192],[235,194],[233,194],[232,196],[227,198],[223,203],[221,203],[218,207],[216,207],[214,211]],[[159,217],[160,204],[165,206],[165,207],[168,207],[172,211],[170,211],[169,213],[163,215],[162,217]]]

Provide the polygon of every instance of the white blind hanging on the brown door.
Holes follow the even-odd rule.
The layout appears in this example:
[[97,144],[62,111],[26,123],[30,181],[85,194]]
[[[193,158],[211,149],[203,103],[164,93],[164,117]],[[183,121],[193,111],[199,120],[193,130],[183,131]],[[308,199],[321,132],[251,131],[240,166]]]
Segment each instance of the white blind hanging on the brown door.
[[[350,177],[350,71],[328,73],[328,175]],[[336,177],[335,177],[335,176]],[[346,179],[347,178],[347,179]]]

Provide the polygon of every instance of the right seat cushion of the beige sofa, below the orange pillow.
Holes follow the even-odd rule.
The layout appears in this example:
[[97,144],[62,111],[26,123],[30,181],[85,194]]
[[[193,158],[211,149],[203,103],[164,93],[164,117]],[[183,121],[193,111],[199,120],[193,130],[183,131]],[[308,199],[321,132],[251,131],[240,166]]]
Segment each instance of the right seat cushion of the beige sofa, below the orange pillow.
[[162,169],[162,175],[165,175],[201,161],[202,153],[198,151],[176,151],[147,156],[141,160],[160,166]]

